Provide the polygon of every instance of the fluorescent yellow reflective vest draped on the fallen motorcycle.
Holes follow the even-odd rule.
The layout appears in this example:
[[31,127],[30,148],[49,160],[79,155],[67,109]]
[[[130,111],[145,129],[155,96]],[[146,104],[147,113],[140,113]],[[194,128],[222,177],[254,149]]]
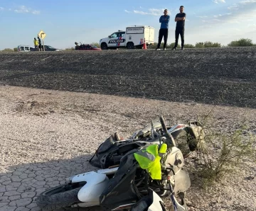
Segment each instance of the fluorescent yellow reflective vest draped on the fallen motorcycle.
[[142,169],[146,169],[152,179],[161,180],[161,157],[166,153],[167,144],[153,144],[146,149],[134,153],[134,157]]

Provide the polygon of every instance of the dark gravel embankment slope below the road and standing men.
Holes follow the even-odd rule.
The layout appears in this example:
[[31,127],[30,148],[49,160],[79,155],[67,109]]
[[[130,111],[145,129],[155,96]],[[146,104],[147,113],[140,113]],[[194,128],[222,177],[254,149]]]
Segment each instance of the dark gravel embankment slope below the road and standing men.
[[256,47],[0,53],[0,81],[13,86],[249,108],[255,67]]

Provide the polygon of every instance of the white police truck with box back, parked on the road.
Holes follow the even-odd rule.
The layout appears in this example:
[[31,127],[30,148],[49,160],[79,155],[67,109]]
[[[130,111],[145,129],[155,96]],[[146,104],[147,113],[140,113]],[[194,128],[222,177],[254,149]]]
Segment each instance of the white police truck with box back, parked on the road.
[[100,40],[102,50],[127,47],[127,49],[141,49],[144,45],[154,44],[154,28],[146,25],[128,26],[126,30],[118,30],[107,38]]

